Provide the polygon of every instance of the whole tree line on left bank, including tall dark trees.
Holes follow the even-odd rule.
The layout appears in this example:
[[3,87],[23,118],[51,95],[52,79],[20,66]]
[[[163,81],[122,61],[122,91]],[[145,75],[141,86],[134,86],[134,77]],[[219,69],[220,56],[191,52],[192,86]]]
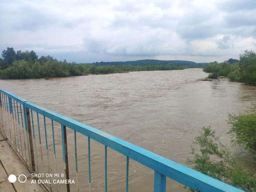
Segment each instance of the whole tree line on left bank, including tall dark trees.
[[52,56],[41,56],[34,51],[17,51],[7,47],[0,58],[1,79],[31,79],[46,77],[68,77],[82,74],[109,74],[125,71],[155,71],[180,70],[188,68],[184,65],[154,64],[154,65],[96,65],[68,63],[66,60],[58,61]]

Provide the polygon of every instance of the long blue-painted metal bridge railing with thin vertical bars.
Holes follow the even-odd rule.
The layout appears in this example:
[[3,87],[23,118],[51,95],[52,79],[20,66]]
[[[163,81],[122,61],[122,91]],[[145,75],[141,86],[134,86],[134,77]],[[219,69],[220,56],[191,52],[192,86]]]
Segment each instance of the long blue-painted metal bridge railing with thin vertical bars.
[[[74,133],[74,152],[75,172],[76,172],[76,191],[79,191],[78,163],[77,163],[77,133],[87,139],[88,158],[88,191],[91,191],[91,140],[104,145],[104,167],[105,167],[105,191],[108,191],[108,149],[111,148],[126,157],[126,191],[129,191],[129,159],[133,159],[154,172],[154,192],[166,191],[166,177],[169,177],[195,191],[216,191],[216,192],[241,192],[233,186],[199,173],[186,166],[173,162],[160,155],[152,153],[127,141],[119,139],[101,130],[60,115],[29,101],[26,101],[12,93],[1,90],[0,97],[0,126],[5,137],[13,144],[14,148],[20,154],[31,173],[56,174],[56,177],[65,176],[70,179],[70,165],[68,153],[67,131]],[[56,143],[56,133],[61,135]],[[69,134],[70,136],[70,134]],[[59,141],[58,140],[58,141]],[[62,148],[63,166],[59,166],[56,159],[57,145]],[[49,146],[53,146],[49,150]],[[59,146],[60,147],[60,146]],[[1,157],[0,157],[1,158]],[[55,162],[55,163],[54,163]],[[48,165],[47,165],[48,164]],[[55,168],[52,168],[54,167]],[[58,175],[60,174],[60,175]],[[38,179],[45,178],[45,175],[37,175]],[[81,180],[80,180],[81,182]],[[85,181],[82,181],[85,182]],[[58,184],[42,183],[48,191],[63,191],[62,186]],[[66,183],[65,189],[70,191],[70,183]],[[83,190],[84,191],[84,190]]]

